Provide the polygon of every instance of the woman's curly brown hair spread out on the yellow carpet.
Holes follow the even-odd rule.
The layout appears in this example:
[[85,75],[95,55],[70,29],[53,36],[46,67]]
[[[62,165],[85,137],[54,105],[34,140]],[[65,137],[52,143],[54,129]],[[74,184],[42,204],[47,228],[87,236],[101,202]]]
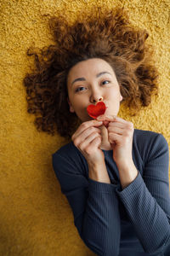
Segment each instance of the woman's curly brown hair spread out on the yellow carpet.
[[67,102],[67,75],[79,61],[101,58],[107,61],[120,84],[123,101],[137,113],[150,104],[157,94],[158,71],[150,62],[153,50],[145,45],[149,34],[129,23],[122,8],[105,11],[76,20],[72,25],[64,17],[52,16],[49,28],[55,44],[42,49],[30,48],[35,69],[24,79],[28,113],[36,115],[38,131],[71,138],[80,124],[76,113],[71,113]]

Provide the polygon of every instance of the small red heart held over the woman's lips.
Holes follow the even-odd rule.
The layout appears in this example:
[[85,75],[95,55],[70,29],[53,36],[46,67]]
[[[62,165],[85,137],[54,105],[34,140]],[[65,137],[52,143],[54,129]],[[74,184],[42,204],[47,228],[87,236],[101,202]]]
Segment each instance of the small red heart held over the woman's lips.
[[89,116],[91,116],[93,119],[97,119],[97,117],[100,114],[105,113],[105,103],[104,102],[98,102],[96,105],[88,105],[87,111]]

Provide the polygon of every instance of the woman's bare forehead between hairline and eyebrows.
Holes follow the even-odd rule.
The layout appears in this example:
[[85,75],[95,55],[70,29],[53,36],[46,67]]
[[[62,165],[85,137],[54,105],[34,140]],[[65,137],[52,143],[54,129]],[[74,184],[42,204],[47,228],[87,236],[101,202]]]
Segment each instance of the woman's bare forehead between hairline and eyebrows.
[[107,61],[99,58],[80,61],[75,66],[71,67],[71,70],[68,73],[68,81],[77,78],[77,76],[95,76],[97,73],[104,71],[113,73],[113,69]]

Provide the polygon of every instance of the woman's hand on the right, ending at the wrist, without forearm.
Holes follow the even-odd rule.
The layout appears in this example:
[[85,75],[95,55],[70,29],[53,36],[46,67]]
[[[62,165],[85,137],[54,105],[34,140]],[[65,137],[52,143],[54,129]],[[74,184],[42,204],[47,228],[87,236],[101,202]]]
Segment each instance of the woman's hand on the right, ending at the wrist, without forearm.
[[132,164],[133,123],[116,116],[101,115],[98,119],[103,121],[108,130],[116,166]]

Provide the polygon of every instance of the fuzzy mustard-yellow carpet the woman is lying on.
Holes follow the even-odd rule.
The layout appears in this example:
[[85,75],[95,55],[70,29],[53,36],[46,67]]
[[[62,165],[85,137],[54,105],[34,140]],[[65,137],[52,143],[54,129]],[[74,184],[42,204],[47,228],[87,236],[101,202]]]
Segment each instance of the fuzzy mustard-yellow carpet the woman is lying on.
[[145,28],[160,72],[159,96],[135,117],[120,116],[134,127],[161,132],[170,146],[170,3],[168,0],[0,0],[0,255],[94,255],[73,224],[71,208],[60,192],[51,154],[67,143],[38,132],[27,113],[22,84],[33,59],[26,50],[53,44],[48,15],[74,20],[82,9],[124,6],[133,25]]

